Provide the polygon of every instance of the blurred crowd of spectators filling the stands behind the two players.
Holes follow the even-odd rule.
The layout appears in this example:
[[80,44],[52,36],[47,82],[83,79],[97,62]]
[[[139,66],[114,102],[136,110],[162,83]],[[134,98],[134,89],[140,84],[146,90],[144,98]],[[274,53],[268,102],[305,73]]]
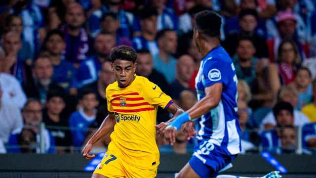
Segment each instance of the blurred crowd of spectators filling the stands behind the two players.
[[[117,45],[133,46],[137,75],[189,109],[203,57],[194,17],[207,9],[223,17],[236,68],[243,152],[314,153],[315,0],[1,0],[0,152],[79,152],[108,114]],[[158,110],[157,123],[169,118]],[[157,139],[165,152],[195,145],[181,132],[173,147]]]

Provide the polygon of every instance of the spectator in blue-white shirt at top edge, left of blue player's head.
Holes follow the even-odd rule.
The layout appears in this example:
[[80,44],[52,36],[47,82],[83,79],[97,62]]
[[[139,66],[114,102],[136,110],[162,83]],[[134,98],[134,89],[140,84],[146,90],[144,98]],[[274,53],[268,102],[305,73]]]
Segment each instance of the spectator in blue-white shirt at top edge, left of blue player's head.
[[178,30],[178,16],[172,8],[166,7],[166,0],[151,0],[152,5],[157,9],[157,30],[173,29]]

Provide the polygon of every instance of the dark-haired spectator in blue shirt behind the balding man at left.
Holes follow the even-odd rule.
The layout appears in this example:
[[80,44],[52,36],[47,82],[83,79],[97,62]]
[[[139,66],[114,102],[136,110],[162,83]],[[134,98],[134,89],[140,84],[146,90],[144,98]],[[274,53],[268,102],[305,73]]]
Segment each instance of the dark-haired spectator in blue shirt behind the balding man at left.
[[52,80],[68,91],[72,87],[76,69],[71,62],[65,60],[65,56],[62,54],[66,48],[64,34],[57,29],[49,31],[43,45],[49,53],[48,57],[53,65]]

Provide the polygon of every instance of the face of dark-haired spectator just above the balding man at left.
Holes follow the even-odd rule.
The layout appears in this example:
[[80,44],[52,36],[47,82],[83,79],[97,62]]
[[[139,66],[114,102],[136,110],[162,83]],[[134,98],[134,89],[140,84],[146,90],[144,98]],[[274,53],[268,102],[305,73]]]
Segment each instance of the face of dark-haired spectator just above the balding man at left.
[[65,49],[66,44],[61,36],[55,34],[48,39],[46,47],[51,54],[59,55]]

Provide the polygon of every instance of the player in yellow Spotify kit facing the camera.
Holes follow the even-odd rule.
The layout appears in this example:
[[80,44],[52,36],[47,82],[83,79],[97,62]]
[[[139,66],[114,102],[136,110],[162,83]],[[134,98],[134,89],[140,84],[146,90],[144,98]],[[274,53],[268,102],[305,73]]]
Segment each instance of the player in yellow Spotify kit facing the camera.
[[112,49],[110,58],[116,82],[106,89],[109,115],[82,150],[85,158],[102,136],[111,134],[111,142],[92,178],[154,178],[159,151],[156,144],[158,106],[178,116],[183,110],[170,96],[147,78],[135,75],[136,51],[129,46]]

